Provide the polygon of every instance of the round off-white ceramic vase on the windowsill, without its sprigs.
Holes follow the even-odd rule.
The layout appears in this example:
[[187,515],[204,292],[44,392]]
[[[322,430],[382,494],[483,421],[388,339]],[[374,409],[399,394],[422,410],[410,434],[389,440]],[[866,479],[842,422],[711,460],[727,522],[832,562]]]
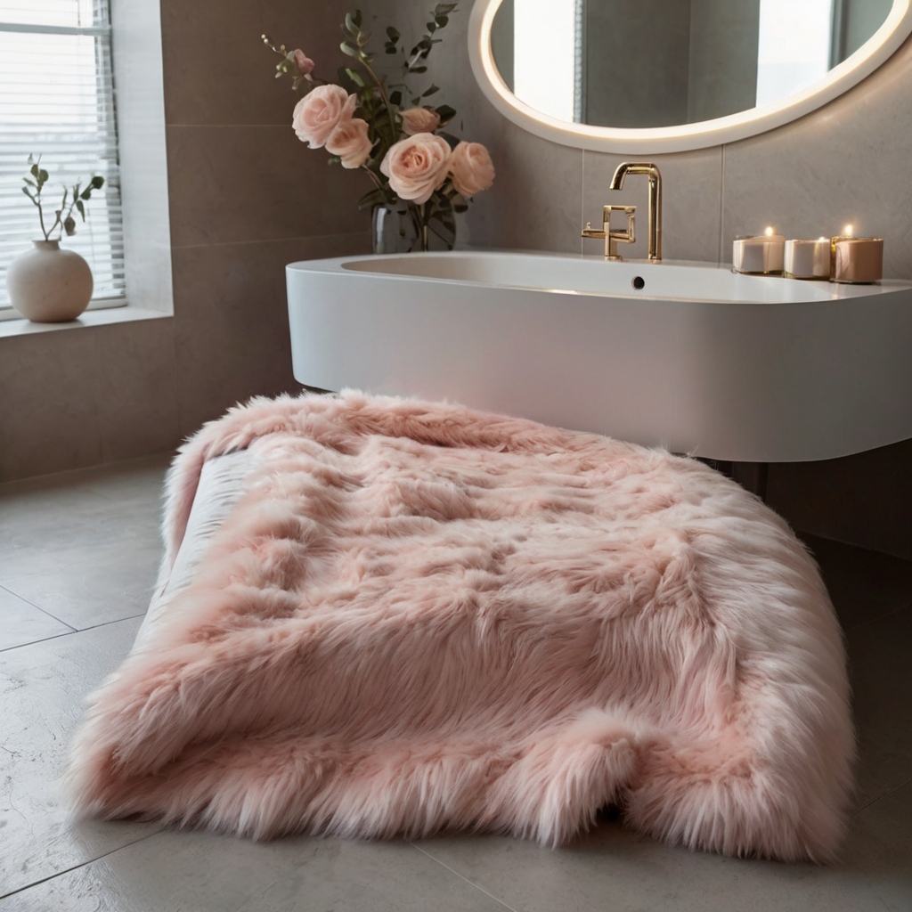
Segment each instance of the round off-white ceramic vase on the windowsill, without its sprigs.
[[22,316],[34,323],[75,320],[92,297],[92,271],[59,241],[33,241],[6,270],[6,291]]

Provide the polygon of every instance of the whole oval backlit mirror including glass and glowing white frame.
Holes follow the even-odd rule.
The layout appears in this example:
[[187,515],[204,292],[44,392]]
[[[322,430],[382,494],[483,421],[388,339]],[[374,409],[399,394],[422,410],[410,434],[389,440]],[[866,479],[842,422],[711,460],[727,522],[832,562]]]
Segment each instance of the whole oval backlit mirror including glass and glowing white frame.
[[507,118],[583,149],[700,149],[851,88],[912,0],[476,0],[472,69]]

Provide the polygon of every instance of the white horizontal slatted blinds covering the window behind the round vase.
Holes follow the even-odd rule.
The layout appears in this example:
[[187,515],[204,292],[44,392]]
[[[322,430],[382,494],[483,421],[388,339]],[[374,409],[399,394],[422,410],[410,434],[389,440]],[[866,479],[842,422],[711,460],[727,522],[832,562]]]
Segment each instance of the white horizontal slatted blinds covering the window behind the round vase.
[[42,237],[22,192],[30,154],[50,174],[42,194],[48,226],[64,186],[105,179],[86,204],[85,223],[74,211],[76,234],[61,246],[92,267],[91,306],[123,303],[109,0],[0,0],[0,308],[9,307],[6,266]]

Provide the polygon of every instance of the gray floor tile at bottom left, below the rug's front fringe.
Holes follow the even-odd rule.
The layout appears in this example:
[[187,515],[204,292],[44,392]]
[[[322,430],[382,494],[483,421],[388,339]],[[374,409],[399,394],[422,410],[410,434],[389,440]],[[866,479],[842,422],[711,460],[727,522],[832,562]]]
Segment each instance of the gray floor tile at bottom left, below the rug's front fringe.
[[2,912],[503,912],[407,843],[162,832],[0,900]]

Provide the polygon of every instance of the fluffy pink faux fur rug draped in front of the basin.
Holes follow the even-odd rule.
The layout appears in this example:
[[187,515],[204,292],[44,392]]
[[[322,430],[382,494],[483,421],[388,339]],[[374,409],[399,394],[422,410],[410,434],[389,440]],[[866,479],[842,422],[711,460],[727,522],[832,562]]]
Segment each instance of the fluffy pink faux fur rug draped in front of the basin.
[[93,695],[79,809],[264,839],[626,823],[834,856],[840,629],[786,523],[698,461],[456,405],[254,400],[175,461],[261,468],[150,642]]

